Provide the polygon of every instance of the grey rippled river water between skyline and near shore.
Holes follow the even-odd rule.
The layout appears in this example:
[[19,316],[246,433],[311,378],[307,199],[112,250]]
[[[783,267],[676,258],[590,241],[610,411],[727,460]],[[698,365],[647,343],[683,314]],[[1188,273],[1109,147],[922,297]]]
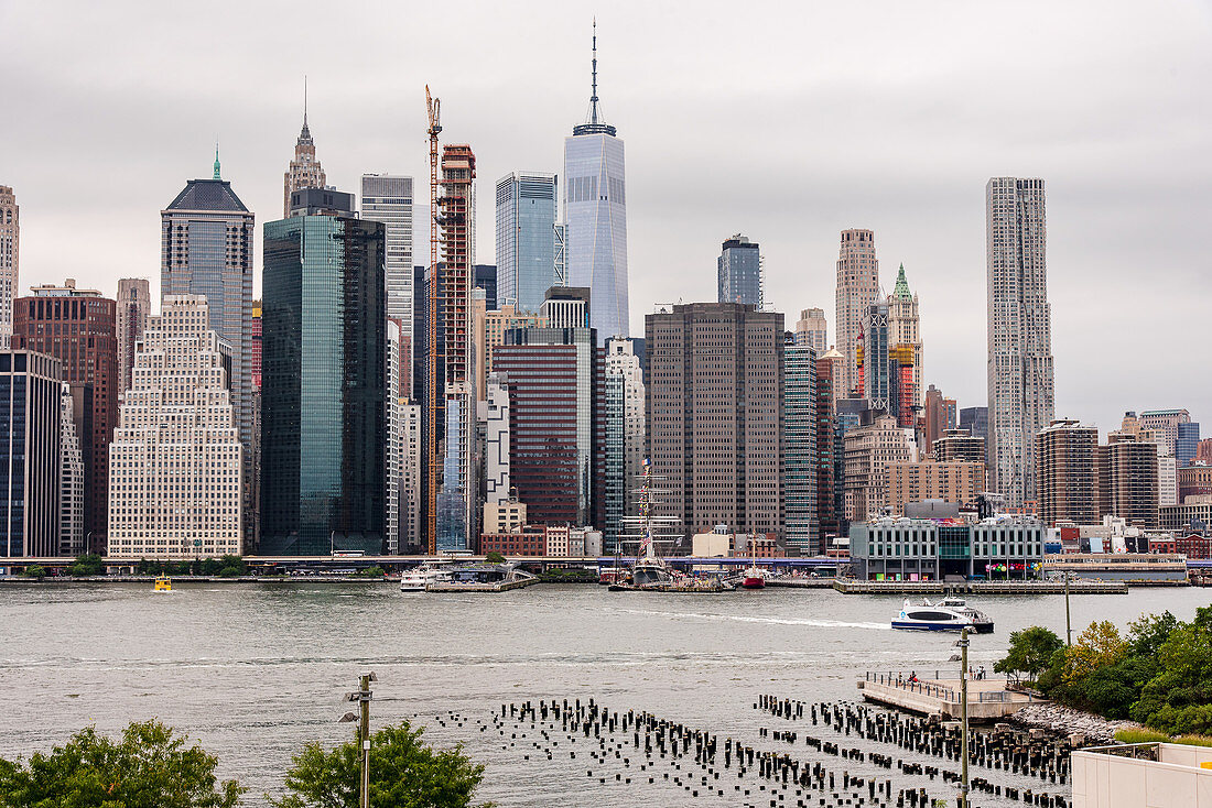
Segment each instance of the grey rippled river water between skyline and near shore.
[[[1162,609],[1189,620],[1210,600],[1207,589],[1074,596],[1074,631],[1096,619],[1124,626]],[[349,738],[349,727],[337,723],[350,707],[342,695],[373,670],[372,724],[416,716],[431,743],[464,743],[487,764],[482,800],[682,806],[688,793],[661,777],[628,785],[602,767],[611,778],[604,785],[585,775],[584,755],[573,761],[561,750],[548,761],[530,749],[526,760],[520,740],[509,746],[485,724],[503,703],[593,698],[793,751],[759,737],[760,727],[777,726],[754,709],[759,694],[847,700],[865,670],[933,675],[948,667],[954,636],[888,628],[901,601],[789,589],[686,596],[541,585],[503,595],[405,595],[389,584],[175,583],[172,592],[158,594],[150,584],[5,584],[0,756],[28,756],[90,723],[116,733],[156,717],[200,740],[219,757],[223,777],[250,786],[247,803],[262,804],[265,792],[280,793],[282,772],[304,741]],[[971,602],[996,623],[995,634],[973,638],[971,652],[972,664],[990,671],[1012,630],[1041,624],[1064,634],[1063,596]],[[794,753],[839,772],[863,770],[802,746]],[[937,780],[892,779],[931,796],[951,793]],[[742,804],[713,800],[694,802]]]

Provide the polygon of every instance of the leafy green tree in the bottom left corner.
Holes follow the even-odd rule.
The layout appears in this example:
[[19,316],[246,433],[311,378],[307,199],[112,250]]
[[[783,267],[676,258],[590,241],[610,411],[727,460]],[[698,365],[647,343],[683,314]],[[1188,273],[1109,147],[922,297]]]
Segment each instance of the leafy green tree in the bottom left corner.
[[244,789],[218,783],[218,760],[158,721],[132,723],[115,741],[81,729],[29,763],[0,758],[2,808],[230,808]]

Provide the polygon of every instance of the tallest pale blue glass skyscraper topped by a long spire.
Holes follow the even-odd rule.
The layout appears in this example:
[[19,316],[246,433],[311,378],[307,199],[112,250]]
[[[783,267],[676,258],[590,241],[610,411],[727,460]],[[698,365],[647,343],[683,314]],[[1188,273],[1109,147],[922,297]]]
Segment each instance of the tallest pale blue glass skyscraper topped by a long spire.
[[598,109],[594,28],[589,120],[564,139],[564,220],[568,280],[591,291],[589,325],[602,342],[630,333],[627,279],[627,179],[623,141]]

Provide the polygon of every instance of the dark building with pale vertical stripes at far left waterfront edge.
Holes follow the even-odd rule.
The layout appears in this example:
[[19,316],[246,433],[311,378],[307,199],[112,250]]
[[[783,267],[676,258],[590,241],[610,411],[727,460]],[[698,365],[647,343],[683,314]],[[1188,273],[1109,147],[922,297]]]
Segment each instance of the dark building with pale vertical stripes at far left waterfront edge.
[[59,554],[62,363],[0,349],[0,558]]

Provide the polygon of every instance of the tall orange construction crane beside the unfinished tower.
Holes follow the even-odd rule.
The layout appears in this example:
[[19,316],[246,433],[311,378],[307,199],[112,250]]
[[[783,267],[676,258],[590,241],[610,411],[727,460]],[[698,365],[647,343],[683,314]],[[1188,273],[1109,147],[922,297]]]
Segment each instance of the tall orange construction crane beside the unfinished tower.
[[438,134],[442,131],[441,101],[429,94],[429,290],[425,293],[425,538],[429,555],[438,555]]

